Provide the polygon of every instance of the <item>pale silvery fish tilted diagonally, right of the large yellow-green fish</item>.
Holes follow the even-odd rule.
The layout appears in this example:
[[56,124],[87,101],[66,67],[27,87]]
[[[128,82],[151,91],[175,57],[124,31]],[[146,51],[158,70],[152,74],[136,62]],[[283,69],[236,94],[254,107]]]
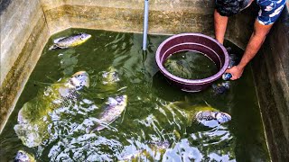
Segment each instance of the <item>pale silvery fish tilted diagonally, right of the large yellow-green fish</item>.
[[99,123],[96,126],[87,128],[87,132],[90,133],[107,128],[106,125],[115,121],[126,109],[126,104],[127,95],[120,95],[115,98],[109,97],[105,106],[105,111],[100,114],[98,119]]

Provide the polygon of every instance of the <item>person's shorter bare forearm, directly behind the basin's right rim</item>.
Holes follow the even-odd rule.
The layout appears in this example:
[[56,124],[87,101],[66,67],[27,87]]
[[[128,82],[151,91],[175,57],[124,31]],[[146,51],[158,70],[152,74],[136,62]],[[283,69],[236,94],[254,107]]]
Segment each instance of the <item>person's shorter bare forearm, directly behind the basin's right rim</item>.
[[224,42],[228,17],[220,15],[217,10],[214,12],[215,37],[221,44]]

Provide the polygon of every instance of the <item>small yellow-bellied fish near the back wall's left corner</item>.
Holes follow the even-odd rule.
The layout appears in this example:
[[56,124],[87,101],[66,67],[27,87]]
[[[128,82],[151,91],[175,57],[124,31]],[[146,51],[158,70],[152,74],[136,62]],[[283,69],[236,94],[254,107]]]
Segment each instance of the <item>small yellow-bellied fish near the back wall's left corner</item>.
[[53,40],[53,45],[50,49],[67,49],[70,47],[78,46],[86,40],[89,40],[90,34],[80,32],[79,34],[72,35],[70,37],[61,37],[59,39]]

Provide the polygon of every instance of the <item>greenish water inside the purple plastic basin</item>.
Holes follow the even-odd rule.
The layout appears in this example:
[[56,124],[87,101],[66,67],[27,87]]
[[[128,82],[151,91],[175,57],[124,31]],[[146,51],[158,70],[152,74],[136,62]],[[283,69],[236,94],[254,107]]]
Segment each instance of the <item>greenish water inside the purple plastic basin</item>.
[[163,67],[172,75],[186,79],[203,79],[218,72],[214,62],[197,51],[175,53],[164,61]]

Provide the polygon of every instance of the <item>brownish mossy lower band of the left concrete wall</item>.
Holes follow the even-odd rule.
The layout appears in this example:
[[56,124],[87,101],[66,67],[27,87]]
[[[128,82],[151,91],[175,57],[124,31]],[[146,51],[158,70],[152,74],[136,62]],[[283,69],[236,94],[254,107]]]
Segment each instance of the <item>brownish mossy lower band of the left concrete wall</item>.
[[5,76],[5,80],[0,87],[1,131],[5,126],[5,121],[8,120],[10,113],[13,111],[15,103],[23,91],[23,86],[32,73],[33,67],[35,67],[49,37],[49,31],[44,19],[39,19],[14,62],[14,66],[10,69],[8,75]]

